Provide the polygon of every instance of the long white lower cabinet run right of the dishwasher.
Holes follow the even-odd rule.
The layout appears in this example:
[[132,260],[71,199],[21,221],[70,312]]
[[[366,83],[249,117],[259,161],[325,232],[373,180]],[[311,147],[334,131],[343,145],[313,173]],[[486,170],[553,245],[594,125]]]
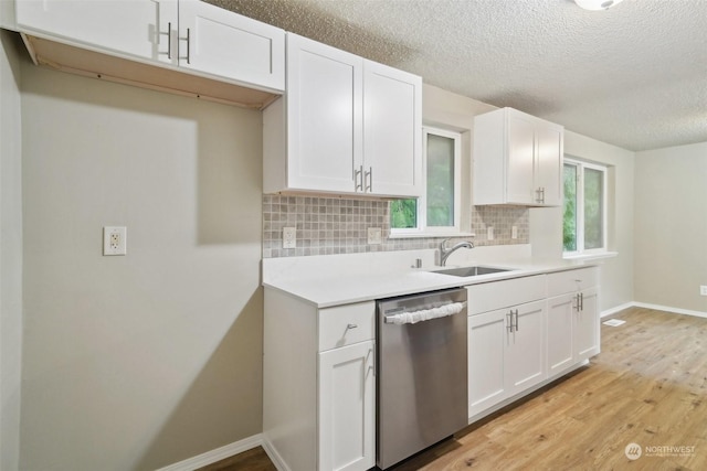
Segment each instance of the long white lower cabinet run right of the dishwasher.
[[597,267],[467,290],[469,422],[600,351]]

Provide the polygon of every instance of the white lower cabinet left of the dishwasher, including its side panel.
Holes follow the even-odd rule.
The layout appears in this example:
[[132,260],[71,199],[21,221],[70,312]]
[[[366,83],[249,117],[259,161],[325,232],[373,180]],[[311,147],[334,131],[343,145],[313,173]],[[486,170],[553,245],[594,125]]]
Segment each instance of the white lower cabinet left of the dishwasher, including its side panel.
[[265,289],[264,448],[277,469],[376,464],[372,301],[326,309]]

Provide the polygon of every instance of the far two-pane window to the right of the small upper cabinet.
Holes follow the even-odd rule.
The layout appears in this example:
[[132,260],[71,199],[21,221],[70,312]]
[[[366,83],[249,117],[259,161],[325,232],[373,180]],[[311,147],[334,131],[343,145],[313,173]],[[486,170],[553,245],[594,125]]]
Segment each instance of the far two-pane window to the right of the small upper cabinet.
[[606,251],[606,168],[564,159],[566,255]]

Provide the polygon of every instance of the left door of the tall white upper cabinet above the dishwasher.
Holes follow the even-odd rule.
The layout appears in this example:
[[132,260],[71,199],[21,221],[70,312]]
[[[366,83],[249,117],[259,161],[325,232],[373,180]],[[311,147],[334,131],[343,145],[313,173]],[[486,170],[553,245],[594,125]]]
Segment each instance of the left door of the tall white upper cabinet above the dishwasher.
[[361,57],[287,34],[289,189],[354,193],[362,181],[362,71]]

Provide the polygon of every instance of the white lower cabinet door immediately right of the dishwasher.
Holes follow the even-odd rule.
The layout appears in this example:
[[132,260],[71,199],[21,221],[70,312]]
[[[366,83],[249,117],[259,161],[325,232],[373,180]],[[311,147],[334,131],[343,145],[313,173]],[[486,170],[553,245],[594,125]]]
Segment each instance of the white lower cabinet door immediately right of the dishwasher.
[[468,317],[468,416],[508,397],[504,383],[506,310]]

